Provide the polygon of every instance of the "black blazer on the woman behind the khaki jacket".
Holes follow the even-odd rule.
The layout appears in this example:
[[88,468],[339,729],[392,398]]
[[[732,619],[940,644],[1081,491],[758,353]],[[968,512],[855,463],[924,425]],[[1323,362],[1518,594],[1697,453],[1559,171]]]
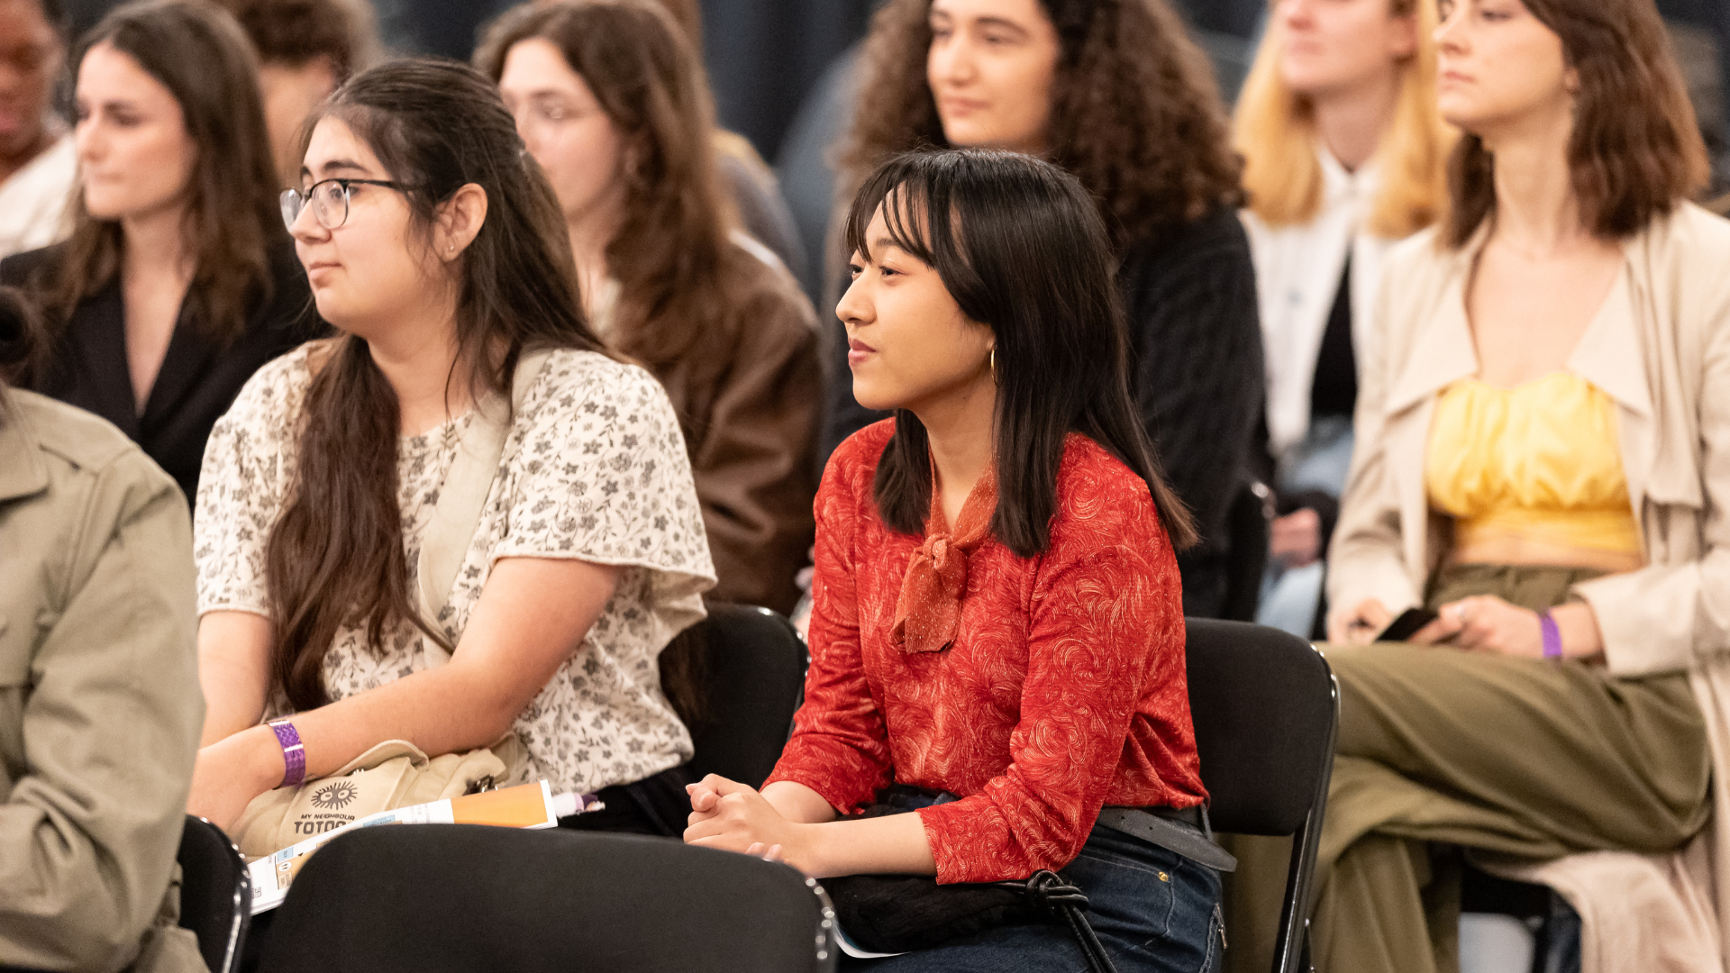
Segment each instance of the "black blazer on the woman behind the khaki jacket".
[[[31,289],[59,270],[64,244],[0,260],[0,284]],[[256,301],[246,331],[228,345],[206,338],[192,301],[180,306],[163,369],[138,414],[126,365],[126,308],[119,275],[85,298],[28,388],[119,426],[187,495],[197,500],[199,466],[211,426],[228,410],[246,379],[265,362],[325,331],[313,308],[306,272],[284,239],[270,253],[270,298]]]

